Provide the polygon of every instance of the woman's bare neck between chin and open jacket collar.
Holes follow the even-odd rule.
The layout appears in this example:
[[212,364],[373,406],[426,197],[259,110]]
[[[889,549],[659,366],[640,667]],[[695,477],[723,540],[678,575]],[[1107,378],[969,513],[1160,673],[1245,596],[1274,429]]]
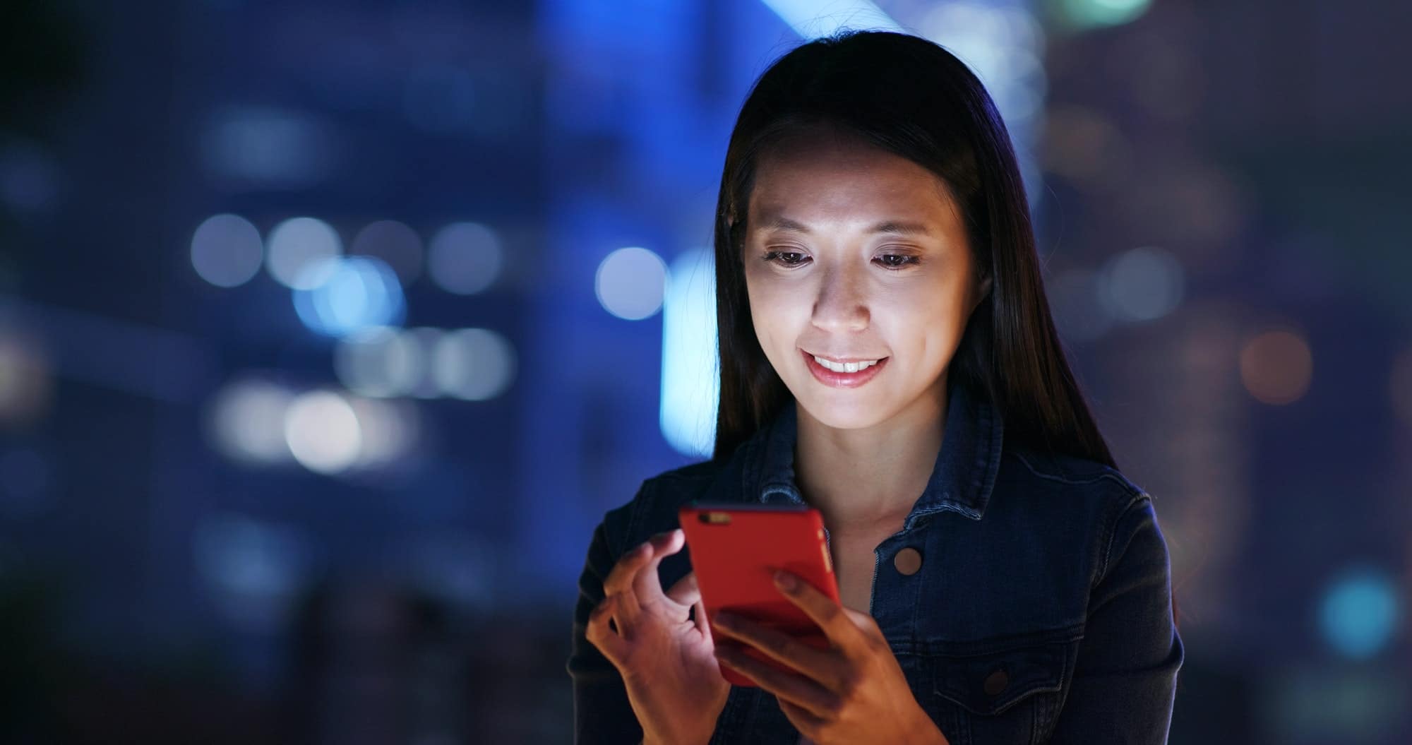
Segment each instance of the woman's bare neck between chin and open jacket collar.
[[834,429],[796,402],[795,480],[830,533],[895,528],[926,490],[946,428],[946,381],[868,429]]

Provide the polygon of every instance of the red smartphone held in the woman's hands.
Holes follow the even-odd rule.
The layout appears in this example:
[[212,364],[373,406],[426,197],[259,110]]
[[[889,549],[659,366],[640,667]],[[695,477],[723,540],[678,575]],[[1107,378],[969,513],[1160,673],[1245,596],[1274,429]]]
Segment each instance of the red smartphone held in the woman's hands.
[[[823,535],[823,518],[808,505],[699,504],[678,511],[706,621],[729,611],[799,638],[819,649],[829,638],[775,587],[777,569],[796,574],[839,602],[839,583]],[[750,645],[748,656],[792,672]],[[755,683],[730,667],[722,676],[736,686]]]

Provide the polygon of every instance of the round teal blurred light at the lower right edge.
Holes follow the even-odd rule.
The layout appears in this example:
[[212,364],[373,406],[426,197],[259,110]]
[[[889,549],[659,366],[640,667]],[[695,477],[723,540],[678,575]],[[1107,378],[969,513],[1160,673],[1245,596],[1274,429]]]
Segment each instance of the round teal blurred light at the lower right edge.
[[1382,570],[1351,569],[1329,587],[1319,622],[1324,641],[1340,655],[1367,659],[1381,652],[1402,621],[1402,598]]

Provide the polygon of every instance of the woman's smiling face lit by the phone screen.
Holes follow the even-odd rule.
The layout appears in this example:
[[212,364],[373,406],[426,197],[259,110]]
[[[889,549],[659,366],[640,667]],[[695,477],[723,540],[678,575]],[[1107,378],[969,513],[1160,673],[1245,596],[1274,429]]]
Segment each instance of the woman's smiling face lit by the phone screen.
[[[746,224],[755,336],[809,415],[860,429],[919,399],[940,405],[942,375],[990,282],[977,284],[936,175],[816,130],[760,157]],[[827,368],[840,361],[861,364]]]

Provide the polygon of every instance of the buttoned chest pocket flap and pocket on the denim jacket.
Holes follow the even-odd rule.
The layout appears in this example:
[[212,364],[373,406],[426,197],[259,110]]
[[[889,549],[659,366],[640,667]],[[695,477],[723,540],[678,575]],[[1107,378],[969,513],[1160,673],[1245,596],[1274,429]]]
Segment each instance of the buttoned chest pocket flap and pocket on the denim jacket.
[[952,745],[1032,745],[1053,729],[1079,642],[929,655],[928,713]]

